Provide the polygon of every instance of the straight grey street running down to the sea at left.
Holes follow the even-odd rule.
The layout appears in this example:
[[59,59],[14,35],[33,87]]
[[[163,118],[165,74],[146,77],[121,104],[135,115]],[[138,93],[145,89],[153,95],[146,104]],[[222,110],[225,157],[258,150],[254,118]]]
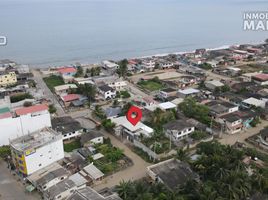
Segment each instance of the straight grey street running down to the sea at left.
[[65,111],[63,110],[62,106],[59,104],[56,96],[50,91],[50,89],[47,87],[47,85],[43,81],[43,77],[41,73],[37,70],[32,70],[32,73],[34,75],[34,80],[37,83],[37,88],[43,91],[45,98],[53,102],[54,106],[57,108],[57,114],[59,116],[65,115]]

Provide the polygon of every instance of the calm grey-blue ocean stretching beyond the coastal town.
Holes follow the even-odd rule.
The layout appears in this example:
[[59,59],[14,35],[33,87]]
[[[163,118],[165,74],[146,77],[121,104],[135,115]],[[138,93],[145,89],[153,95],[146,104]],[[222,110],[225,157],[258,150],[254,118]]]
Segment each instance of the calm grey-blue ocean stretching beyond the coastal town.
[[0,0],[0,59],[32,67],[97,63],[258,43],[243,13],[260,0]]

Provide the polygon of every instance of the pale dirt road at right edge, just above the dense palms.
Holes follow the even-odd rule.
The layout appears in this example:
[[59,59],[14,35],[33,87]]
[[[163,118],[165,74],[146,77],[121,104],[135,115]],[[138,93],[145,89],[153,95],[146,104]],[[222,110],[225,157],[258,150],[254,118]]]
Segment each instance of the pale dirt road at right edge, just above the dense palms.
[[262,121],[262,123],[255,128],[251,128],[234,135],[223,134],[222,139],[219,139],[219,142],[226,145],[233,145],[237,141],[245,142],[248,137],[258,134],[260,130],[262,130],[266,126],[268,126],[268,121]]

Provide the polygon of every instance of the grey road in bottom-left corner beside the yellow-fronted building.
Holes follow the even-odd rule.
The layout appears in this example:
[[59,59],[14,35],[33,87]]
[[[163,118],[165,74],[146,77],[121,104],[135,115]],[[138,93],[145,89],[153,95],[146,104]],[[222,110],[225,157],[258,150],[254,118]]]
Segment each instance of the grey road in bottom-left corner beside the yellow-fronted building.
[[37,200],[41,197],[37,193],[26,193],[25,186],[17,181],[4,161],[0,160],[0,200]]

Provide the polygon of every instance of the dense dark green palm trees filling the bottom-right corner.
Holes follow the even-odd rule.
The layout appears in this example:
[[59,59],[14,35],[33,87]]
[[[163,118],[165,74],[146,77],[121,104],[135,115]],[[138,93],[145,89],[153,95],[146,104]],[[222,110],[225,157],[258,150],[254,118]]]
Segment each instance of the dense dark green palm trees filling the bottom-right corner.
[[[124,200],[240,200],[256,194],[268,194],[267,155],[253,149],[236,149],[218,142],[201,143],[197,147],[200,158],[191,161],[192,169],[200,181],[186,181],[171,191],[161,184],[144,181],[121,182],[116,191]],[[265,166],[242,162],[245,156],[259,156]],[[183,151],[177,158],[187,160]],[[253,174],[249,174],[249,168]],[[170,177],[172,178],[172,177]]]

